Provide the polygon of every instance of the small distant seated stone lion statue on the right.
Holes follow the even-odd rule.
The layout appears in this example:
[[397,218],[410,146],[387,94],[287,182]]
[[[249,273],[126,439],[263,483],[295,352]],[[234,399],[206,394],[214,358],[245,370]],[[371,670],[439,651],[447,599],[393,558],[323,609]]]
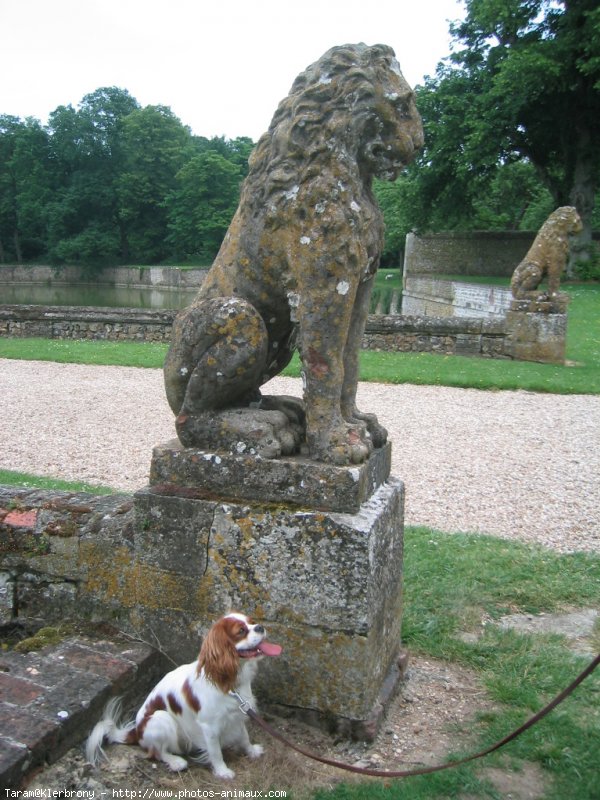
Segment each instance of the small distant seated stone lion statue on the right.
[[[560,276],[569,257],[569,236],[582,230],[581,219],[572,206],[553,211],[542,225],[527,255],[515,269],[510,288],[517,300],[556,297]],[[548,290],[539,292],[544,277]]]

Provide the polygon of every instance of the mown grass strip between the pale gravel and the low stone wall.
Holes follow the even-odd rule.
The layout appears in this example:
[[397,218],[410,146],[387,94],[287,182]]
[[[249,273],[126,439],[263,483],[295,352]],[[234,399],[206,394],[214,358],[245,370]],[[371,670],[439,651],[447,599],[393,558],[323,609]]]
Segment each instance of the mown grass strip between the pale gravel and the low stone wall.
[[[385,271],[384,271],[385,274]],[[361,379],[475,389],[524,389],[557,394],[600,394],[600,284],[573,284],[567,329],[567,366],[433,353],[361,353]],[[0,358],[160,368],[167,346],[0,338]],[[296,356],[283,373],[297,377]]]

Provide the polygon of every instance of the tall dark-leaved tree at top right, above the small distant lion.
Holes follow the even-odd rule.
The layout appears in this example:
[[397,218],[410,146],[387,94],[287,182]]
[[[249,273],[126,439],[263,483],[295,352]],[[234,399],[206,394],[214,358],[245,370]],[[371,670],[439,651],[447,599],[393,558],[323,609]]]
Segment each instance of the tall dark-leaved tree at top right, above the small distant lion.
[[497,170],[532,165],[553,205],[574,205],[589,257],[600,186],[597,0],[466,0],[457,50],[418,92],[427,145],[415,219],[460,227]]

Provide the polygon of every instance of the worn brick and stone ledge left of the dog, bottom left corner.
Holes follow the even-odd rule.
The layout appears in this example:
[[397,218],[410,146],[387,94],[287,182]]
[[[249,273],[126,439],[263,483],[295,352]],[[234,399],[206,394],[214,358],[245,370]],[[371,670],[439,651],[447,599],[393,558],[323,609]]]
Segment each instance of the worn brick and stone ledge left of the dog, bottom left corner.
[[0,653],[0,786],[20,789],[40,766],[83,741],[108,698],[138,701],[165,660],[139,642],[68,638]]

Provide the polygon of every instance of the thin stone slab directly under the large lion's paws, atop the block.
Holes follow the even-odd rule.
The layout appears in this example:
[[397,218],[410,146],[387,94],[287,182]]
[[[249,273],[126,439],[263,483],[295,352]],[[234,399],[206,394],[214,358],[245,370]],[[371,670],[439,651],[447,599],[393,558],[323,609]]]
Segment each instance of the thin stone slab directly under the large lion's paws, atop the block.
[[336,467],[300,456],[268,459],[184,448],[172,439],[153,450],[150,491],[189,499],[276,503],[356,513],[388,479],[391,444],[364,464]]

